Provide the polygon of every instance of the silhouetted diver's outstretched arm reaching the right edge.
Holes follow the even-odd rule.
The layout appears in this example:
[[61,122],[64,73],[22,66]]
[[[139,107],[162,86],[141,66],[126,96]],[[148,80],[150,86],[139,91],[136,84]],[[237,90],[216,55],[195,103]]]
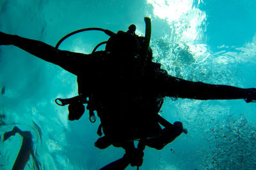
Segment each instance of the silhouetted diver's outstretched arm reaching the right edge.
[[168,76],[163,85],[164,96],[198,100],[245,99],[247,103],[256,99],[256,89],[241,89],[229,85],[212,85]]

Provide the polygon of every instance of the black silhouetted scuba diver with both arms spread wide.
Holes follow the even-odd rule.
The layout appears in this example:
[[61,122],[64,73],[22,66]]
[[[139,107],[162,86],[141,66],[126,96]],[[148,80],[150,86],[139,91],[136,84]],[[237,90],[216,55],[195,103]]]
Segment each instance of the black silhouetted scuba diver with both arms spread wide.
[[[250,103],[256,99],[256,89],[241,89],[228,85],[212,85],[176,78],[152,62],[149,47],[151,22],[145,17],[145,37],[136,35],[136,26],[127,32],[111,32],[106,29],[88,28],[74,31],[63,37],[54,48],[41,41],[22,38],[0,32],[0,45],[14,45],[47,62],[56,64],[77,76],[78,96],[56,99],[56,103],[68,104],[68,119],[78,120],[84,113],[84,104],[90,121],[95,114],[100,118],[100,137],[95,146],[100,149],[110,145],[122,147],[125,155],[102,169],[140,167],[145,146],[161,150],[182,132],[188,133],[181,122],[170,124],[158,112],[164,97],[198,100],[244,99]],[[58,50],[63,40],[81,31],[99,30],[110,36],[103,51],[76,53]],[[163,126],[163,128],[161,127]],[[102,133],[103,131],[103,133]],[[139,141],[134,146],[134,141]]]

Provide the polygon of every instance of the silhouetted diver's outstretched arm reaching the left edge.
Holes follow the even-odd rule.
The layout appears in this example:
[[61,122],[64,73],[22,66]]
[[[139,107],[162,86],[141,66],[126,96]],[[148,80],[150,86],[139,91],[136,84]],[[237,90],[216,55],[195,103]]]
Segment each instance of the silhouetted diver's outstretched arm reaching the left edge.
[[58,50],[42,41],[22,38],[16,35],[0,32],[0,45],[15,45],[26,52],[39,57],[47,62],[51,62],[73,74],[78,74],[81,63],[86,64],[89,55]]

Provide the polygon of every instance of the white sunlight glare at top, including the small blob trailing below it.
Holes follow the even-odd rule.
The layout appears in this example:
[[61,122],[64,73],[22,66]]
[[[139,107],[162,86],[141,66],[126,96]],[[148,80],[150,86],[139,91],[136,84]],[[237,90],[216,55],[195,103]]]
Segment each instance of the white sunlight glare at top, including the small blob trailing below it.
[[[196,60],[204,60],[209,56],[207,45],[198,42],[204,39],[205,11],[201,11],[195,6],[195,0],[148,0],[148,4],[154,7],[154,15],[167,21],[170,25],[168,41],[188,46],[189,51],[196,57]],[[197,4],[202,3],[198,0]]]

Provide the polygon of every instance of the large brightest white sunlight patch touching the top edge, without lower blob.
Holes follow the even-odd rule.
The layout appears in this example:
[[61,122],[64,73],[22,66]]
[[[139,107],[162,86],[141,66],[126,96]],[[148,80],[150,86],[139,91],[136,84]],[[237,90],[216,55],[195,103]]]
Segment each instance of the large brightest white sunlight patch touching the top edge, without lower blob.
[[[200,2],[198,0],[198,4]],[[156,17],[167,20],[180,41],[192,43],[202,38],[201,25],[204,24],[206,14],[193,7],[193,0],[148,0],[148,3],[154,7]]]

